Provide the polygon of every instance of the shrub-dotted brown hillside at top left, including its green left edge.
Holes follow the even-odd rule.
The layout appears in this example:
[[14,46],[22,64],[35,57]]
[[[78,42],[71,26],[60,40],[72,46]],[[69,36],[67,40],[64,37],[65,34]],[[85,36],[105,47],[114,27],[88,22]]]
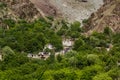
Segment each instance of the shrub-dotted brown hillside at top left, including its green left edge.
[[10,20],[29,22],[38,17],[41,17],[41,14],[29,0],[0,0],[0,26],[4,28],[8,27],[6,22]]

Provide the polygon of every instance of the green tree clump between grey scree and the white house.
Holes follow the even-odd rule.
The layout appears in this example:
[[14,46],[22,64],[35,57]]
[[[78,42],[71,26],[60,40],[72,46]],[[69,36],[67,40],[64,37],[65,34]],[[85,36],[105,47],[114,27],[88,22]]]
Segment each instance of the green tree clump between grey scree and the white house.
[[61,22],[62,28],[59,29],[57,32],[60,36],[66,36],[71,38],[78,38],[82,32],[81,24],[78,21],[75,21],[72,24],[69,24],[65,21]]

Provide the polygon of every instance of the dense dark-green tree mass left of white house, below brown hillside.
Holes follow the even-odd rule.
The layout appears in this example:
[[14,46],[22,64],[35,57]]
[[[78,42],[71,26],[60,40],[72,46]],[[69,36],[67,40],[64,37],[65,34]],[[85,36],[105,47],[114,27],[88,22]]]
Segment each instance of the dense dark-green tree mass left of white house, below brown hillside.
[[12,20],[6,20],[5,22],[12,28],[1,30],[1,47],[10,46],[16,51],[35,52],[42,50],[47,43],[51,43],[56,51],[62,49],[61,37],[49,29],[51,24],[44,19],[34,23],[20,21],[13,24],[14,21]]

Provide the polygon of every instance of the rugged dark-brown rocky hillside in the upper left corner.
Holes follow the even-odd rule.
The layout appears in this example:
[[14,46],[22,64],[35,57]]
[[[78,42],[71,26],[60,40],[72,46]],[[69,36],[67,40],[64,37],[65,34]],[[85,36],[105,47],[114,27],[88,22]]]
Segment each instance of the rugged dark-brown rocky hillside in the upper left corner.
[[9,16],[14,15],[17,19],[29,21],[40,16],[39,11],[29,0],[0,0],[0,2],[7,5]]

